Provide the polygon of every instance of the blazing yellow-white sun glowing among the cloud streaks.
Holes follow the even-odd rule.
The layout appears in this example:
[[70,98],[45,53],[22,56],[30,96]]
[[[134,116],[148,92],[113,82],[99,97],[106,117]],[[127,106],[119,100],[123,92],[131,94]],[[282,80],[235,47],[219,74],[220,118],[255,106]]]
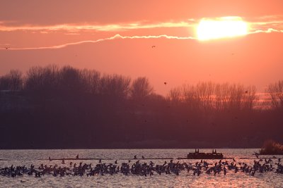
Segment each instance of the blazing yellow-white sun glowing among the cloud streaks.
[[197,39],[210,40],[248,34],[248,24],[241,17],[203,18],[197,26]]

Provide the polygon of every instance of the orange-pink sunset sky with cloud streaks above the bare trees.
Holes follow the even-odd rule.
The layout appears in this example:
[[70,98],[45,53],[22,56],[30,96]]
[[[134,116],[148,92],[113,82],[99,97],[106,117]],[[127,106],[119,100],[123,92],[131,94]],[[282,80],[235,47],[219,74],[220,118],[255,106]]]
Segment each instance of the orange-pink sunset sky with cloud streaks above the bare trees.
[[[200,21],[221,17],[247,34],[200,40]],[[283,1],[0,1],[0,75],[48,64],[146,76],[164,95],[200,81],[262,92],[283,79]]]

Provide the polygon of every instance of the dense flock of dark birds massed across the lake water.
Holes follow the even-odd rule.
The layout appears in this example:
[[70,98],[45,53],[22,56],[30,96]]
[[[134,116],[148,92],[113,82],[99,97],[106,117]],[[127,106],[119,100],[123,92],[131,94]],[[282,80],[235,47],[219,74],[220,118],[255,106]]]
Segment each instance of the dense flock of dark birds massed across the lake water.
[[[0,175],[6,177],[16,177],[23,175],[30,175],[34,177],[42,177],[44,175],[52,175],[54,177],[64,176],[95,176],[95,175],[115,175],[122,173],[123,175],[163,175],[173,174],[179,175],[181,171],[187,171],[193,175],[200,176],[202,174],[207,175],[226,175],[227,173],[246,173],[247,175],[255,175],[255,173],[275,172],[283,174],[283,165],[281,158],[271,158],[258,161],[254,161],[253,165],[246,163],[233,161],[217,161],[216,163],[207,163],[207,161],[197,161],[196,163],[180,163],[180,161],[170,162],[165,161],[162,164],[154,164],[152,161],[149,163],[131,160],[127,163],[118,164],[117,160],[114,163],[103,163],[101,160],[98,164],[86,164],[86,163],[73,163],[69,162],[69,165],[58,166],[58,165],[44,165],[43,163],[35,168],[35,165],[26,167],[25,165],[0,168]],[[65,161],[62,161],[65,164]]]

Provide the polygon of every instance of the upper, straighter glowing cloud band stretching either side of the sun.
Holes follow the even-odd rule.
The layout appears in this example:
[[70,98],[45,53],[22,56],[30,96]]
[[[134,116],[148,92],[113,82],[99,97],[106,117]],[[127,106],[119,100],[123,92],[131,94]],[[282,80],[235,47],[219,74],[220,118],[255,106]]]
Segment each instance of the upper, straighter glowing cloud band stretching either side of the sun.
[[[30,31],[30,32],[52,32],[52,31],[65,31],[65,32],[80,32],[80,31],[122,31],[122,30],[139,30],[139,29],[153,29],[153,28],[166,28],[166,27],[195,27],[198,20],[187,19],[178,22],[164,22],[164,23],[148,23],[148,22],[136,22],[125,24],[110,24],[110,25],[92,25],[92,24],[64,24],[64,25],[10,25],[4,20],[0,20],[0,31]],[[273,30],[283,30],[283,16],[282,15],[268,15],[260,18],[250,18],[247,20],[250,25],[250,31],[267,30],[272,28]]]

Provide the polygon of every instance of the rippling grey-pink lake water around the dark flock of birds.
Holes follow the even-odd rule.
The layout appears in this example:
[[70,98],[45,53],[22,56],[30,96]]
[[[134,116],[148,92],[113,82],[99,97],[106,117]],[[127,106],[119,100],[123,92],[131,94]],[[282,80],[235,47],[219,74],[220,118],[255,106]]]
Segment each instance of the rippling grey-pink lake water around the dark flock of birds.
[[[174,162],[180,163],[196,163],[200,160],[177,160],[176,158],[185,158],[187,153],[194,152],[195,149],[63,149],[63,150],[0,150],[0,168],[10,165],[35,165],[37,168],[41,163],[47,165],[62,165],[62,161],[48,161],[42,159],[51,158],[75,158],[79,154],[79,158],[102,158],[102,163],[114,163],[116,159],[117,165],[127,162],[125,158],[137,158],[144,156],[145,158],[174,158]],[[200,152],[212,152],[212,149],[200,149]],[[252,154],[258,152],[258,149],[217,149],[217,152],[224,154],[226,158],[235,158],[237,163],[247,163],[253,165],[256,159]],[[263,158],[265,156],[260,156]],[[267,156],[272,157],[272,156]],[[283,156],[277,156],[277,158]],[[40,160],[39,160],[40,159]],[[272,159],[275,163],[277,159]],[[134,163],[132,160],[131,163]],[[141,162],[152,161],[162,165],[164,161],[170,160],[140,160]],[[208,163],[215,163],[219,160],[207,160]],[[227,159],[229,163],[232,159]],[[69,166],[70,161],[66,161]],[[98,164],[98,160],[90,161],[73,161],[75,163],[92,163]],[[274,164],[274,166],[276,166]],[[117,173],[115,175],[95,175],[94,177],[65,176],[54,177],[53,175],[45,175],[40,178],[34,176],[17,176],[4,177],[0,176],[0,187],[283,187],[283,174],[272,172],[255,173],[254,176],[247,173],[233,173],[228,171],[226,175],[213,175],[202,173],[200,176],[193,175],[186,170],[180,172],[180,175],[154,173],[152,176],[141,175],[123,175]]]

